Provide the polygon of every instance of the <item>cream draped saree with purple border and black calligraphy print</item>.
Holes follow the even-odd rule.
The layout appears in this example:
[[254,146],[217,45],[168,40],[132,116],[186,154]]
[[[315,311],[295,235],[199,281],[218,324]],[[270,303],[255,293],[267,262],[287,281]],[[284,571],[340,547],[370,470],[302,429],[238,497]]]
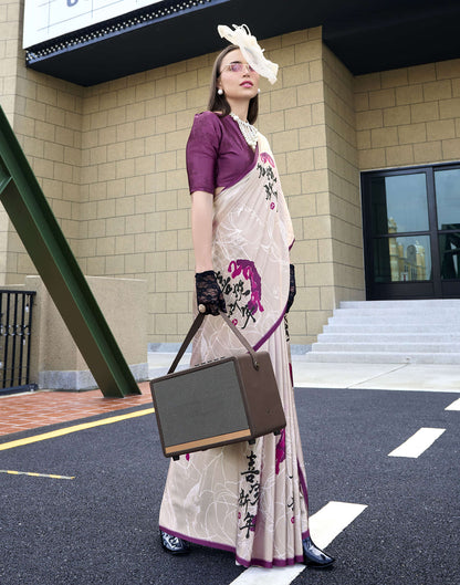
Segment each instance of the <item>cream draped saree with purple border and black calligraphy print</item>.
[[[241,442],[171,461],[160,529],[233,551],[243,566],[303,561],[307,492],[284,317],[289,251],[294,241],[280,178],[260,136],[251,170],[215,198],[213,267],[229,317],[255,349],[270,353],[286,427],[254,445]],[[244,352],[220,317],[207,316],[191,364]]]

